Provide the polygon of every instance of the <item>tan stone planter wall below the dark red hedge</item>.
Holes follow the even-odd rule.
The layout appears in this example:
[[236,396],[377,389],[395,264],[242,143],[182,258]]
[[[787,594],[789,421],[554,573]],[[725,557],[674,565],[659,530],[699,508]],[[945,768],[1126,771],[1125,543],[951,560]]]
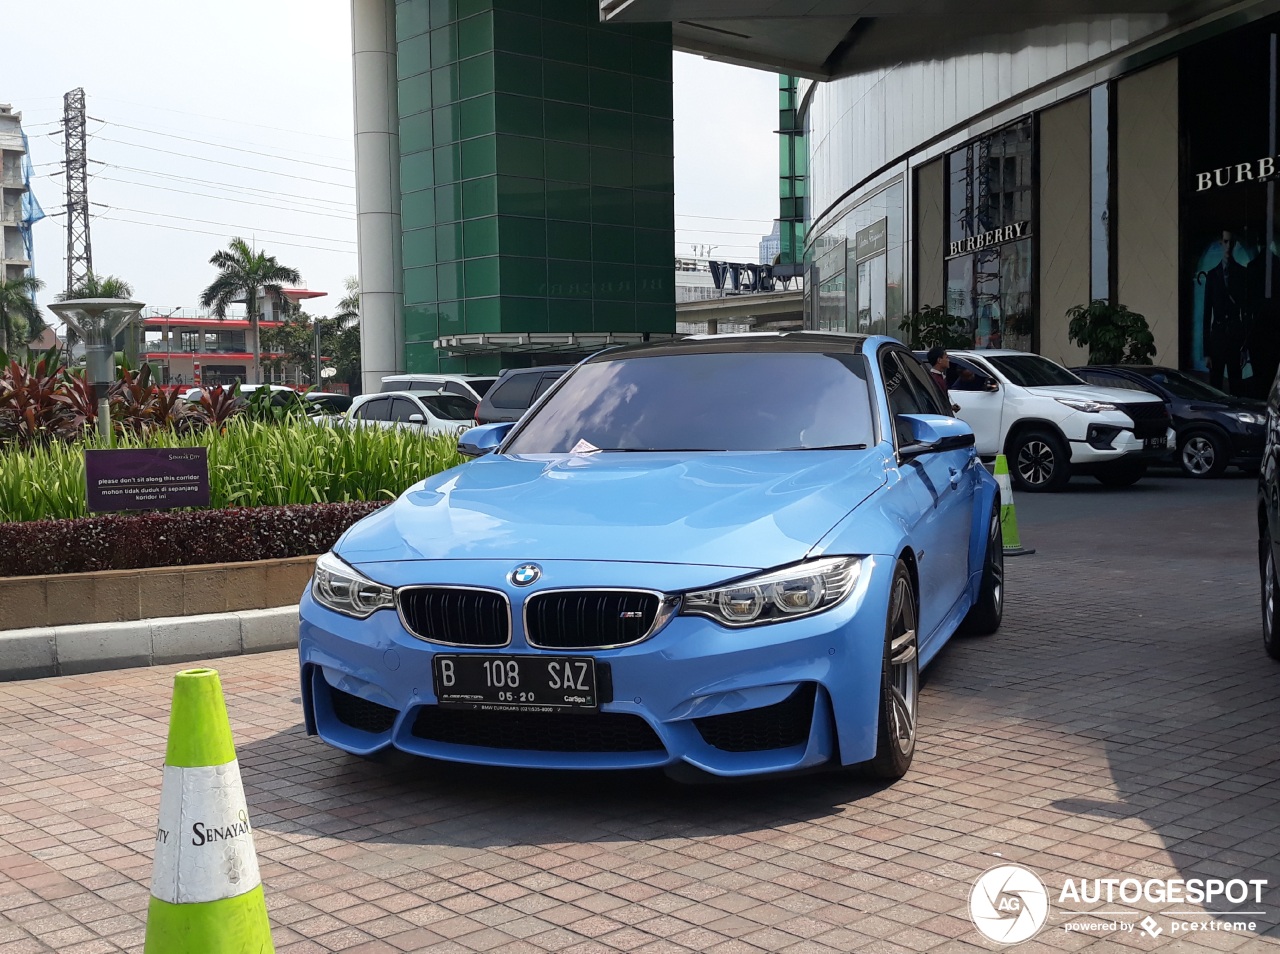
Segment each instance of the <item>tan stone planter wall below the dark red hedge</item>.
[[0,578],[0,630],[292,606],[316,558]]

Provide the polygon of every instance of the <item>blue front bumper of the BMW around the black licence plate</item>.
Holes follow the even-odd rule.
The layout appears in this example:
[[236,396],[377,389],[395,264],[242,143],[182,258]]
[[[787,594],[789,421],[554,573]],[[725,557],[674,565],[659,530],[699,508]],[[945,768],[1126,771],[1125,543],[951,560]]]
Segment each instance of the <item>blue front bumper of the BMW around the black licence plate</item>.
[[[460,561],[460,563],[463,561]],[[476,584],[509,565],[430,565],[431,579],[456,569]],[[477,566],[477,563],[480,566]],[[402,565],[404,566],[404,565]],[[652,565],[612,563],[632,586]],[[507,647],[458,648],[411,635],[394,611],[355,620],[303,595],[300,634],[307,731],[339,749],[385,749],[456,762],[530,768],[648,768],[685,763],[746,776],[854,763],[876,753],[884,620],[893,561],[867,557],[852,593],[809,617],[728,629],[675,616],[634,645],[566,653],[525,642],[522,599],[508,590]],[[671,567],[663,572],[669,575]],[[599,581],[600,565],[559,565],[557,576]],[[500,575],[497,579],[502,579]],[[492,583],[489,584],[492,585]],[[590,656],[598,711],[527,712],[447,708],[433,677],[436,653]]]

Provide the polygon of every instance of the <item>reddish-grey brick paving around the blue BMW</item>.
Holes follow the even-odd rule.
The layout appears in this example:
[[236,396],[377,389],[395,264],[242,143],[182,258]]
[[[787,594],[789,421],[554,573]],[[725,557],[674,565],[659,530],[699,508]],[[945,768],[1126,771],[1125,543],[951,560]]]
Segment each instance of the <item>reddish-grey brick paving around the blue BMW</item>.
[[[1000,634],[931,667],[911,775],[379,766],[307,739],[288,653],[218,661],[276,950],[963,951],[973,880],[1268,878],[1261,916],[1060,905],[1036,950],[1280,948],[1280,665],[1253,483],[1018,498]],[[0,684],[0,951],[140,951],[174,667]],[[1083,908],[1162,934],[1080,935]],[[1215,905],[1212,910],[1225,910]],[[1254,931],[1174,936],[1167,912]]]

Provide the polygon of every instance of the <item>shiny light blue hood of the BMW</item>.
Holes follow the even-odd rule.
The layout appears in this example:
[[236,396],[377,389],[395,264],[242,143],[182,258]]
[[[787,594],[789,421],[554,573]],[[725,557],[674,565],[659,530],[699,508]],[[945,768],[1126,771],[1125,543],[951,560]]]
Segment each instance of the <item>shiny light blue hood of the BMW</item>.
[[886,483],[868,451],[485,456],[352,526],[352,565],[593,560],[764,569],[803,560]]

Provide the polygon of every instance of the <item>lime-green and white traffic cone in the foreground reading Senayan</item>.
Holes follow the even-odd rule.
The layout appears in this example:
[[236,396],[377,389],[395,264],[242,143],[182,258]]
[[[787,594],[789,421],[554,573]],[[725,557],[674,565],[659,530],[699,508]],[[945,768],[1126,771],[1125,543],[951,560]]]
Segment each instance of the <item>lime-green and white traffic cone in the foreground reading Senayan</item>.
[[145,954],[274,954],[216,670],[173,684]]

